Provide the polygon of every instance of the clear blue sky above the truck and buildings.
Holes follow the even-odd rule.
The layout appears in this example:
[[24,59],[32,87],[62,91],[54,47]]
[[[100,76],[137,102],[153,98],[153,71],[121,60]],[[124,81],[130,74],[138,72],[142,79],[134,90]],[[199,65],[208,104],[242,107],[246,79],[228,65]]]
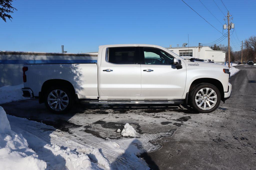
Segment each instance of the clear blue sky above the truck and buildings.
[[[224,15],[212,0],[184,0],[222,32]],[[239,40],[255,35],[256,1],[222,0],[235,23]],[[215,0],[226,14],[221,0]],[[174,1],[67,1],[17,0],[12,22],[0,21],[0,50],[61,52],[98,51],[104,44],[172,44],[197,46],[222,36],[181,0]],[[227,30],[225,30],[226,32]],[[240,49],[231,35],[231,46]],[[227,38],[221,42],[227,44]]]

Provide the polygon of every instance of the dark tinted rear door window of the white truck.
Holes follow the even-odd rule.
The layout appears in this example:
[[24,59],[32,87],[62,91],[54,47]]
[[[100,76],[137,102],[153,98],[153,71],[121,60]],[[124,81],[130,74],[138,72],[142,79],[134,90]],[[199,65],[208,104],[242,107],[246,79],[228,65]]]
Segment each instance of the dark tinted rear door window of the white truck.
[[140,64],[138,47],[110,47],[106,51],[106,61],[113,64]]

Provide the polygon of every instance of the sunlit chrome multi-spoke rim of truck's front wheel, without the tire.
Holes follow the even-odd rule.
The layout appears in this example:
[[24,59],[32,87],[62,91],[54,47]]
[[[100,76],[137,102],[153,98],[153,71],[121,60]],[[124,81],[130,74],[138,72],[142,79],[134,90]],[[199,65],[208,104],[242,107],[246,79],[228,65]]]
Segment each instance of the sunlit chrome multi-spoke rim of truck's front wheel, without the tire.
[[209,110],[217,103],[217,94],[211,88],[202,88],[195,97],[196,105],[202,110]]

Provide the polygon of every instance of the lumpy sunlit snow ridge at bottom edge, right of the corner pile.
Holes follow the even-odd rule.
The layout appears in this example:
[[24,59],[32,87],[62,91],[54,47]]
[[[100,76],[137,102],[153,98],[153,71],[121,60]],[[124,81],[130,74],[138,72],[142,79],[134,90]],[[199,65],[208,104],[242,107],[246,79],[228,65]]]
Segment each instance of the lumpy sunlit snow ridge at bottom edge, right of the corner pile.
[[[64,150],[58,145],[46,144],[44,148],[50,152],[50,154],[45,153],[45,159],[47,159],[46,157],[51,154],[54,154],[56,158],[64,158],[56,160],[58,161],[58,164],[56,165],[61,165],[64,163],[66,168],[69,170],[92,169],[91,161],[86,154],[77,154],[76,152],[71,151],[69,148]],[[54,167],[54,169],[59,168],[61,167]]]

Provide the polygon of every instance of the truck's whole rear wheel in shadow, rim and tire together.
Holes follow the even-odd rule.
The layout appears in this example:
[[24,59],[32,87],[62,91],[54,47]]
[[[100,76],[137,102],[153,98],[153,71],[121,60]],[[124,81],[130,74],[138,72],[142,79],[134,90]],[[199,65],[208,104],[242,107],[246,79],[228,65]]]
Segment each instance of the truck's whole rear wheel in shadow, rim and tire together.
[[45,95],[45,105],[54,113],[66,112],[72,107],[73,102],[72,93],[65,87],[51,87]]

